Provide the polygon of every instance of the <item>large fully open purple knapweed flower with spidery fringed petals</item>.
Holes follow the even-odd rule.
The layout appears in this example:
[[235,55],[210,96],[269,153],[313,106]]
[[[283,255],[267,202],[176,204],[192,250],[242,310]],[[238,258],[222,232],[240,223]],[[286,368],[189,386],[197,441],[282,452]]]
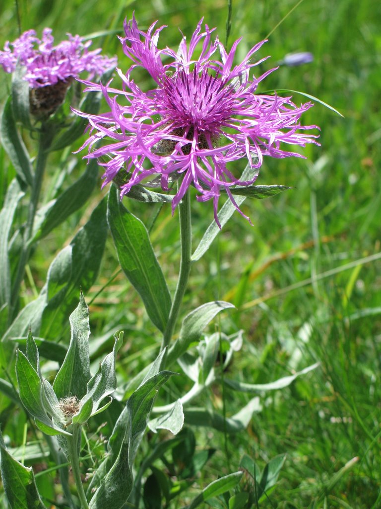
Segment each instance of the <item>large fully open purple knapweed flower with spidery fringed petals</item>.
[[[85,81],[86,91],[101,90],[110,111],[102,115],[77,114],[89,121],[90,136],[81,147],[88,147],[86,158],[102,158],[106,167],[106,185],[120,172],[120,197],[147,177],[161,178],[168,189],[170,179],[182,176],[172,201],[172,211],[192,184],[199,201],[213,200],[214,217],[221,190],[239,210],[231,186],[248,186],[238,180],[229,163],[245,158],[251,168],[259,168],[263,156],[302,157],[285,151],[281,144],[305,146],[316,143],[314,134],[304,131],[316,126],[302,126],[300,116],[312,104],[296,106],[291,97],[256,95],[258,84],[275,69],[259,77],[250,71],[266,58],[251,62],[252,55],[265,41],[254,46],[238,65],[233,65],[240,39],[228,53],[218,38],[213,42],[210,30],[201,20],[189,44],[183,37],[177,52],[158,49],[164,26],[147,33],[139,30],[135,17],[124,22],[125,37],[120,38],[124,53],[133,61],[126,74],[117,70],[123,90]],[[200,45],[200,50],[196,49]],[[214,59],[219,52],[220,58]],[[143,91],[132,79],[135,68],[142,67],[156,87]],[[103,145],[97,146],[102,141]],[[104,161],[104,156],[108,159]],[[242,212],[240,211],[242,214]],[[243,215],[243,214],[242,214]],[[246,217],[246,216],[244,216]]]

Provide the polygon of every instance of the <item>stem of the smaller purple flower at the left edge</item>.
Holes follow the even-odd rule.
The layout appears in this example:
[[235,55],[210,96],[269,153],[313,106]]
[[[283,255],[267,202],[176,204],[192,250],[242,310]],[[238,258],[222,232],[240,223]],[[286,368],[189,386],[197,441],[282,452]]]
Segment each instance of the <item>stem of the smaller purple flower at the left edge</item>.
[[54,136],[54,129],[49,124],[42,124],[39,139],[39,149],[36,159],[35,174],[33,177],[33,185],[30,190],[30,202],[28,215],[26,219],[25,231],[23,236],[23,246],[20,253],[20,260],[17,267],[16,277],[12,286],[11,309],[9,313],[10,323],[15,318],[17,310],[17,301],[19,298],[20,286],[25,275],[25,266],[28,263],[30,250],[32,246],[33,227],[41,193],[42,181],[45,172],[46,159],[49,153]]

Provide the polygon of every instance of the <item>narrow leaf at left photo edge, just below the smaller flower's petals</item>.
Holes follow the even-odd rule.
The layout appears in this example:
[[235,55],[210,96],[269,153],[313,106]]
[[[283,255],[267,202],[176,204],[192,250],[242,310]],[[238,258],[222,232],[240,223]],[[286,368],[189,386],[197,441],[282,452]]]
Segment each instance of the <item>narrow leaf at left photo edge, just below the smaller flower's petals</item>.
[[33,185],[33,169],[24,142],[18,134],[12,111],[12,98],[5,105],[1,123],[2,144],[24,184]]

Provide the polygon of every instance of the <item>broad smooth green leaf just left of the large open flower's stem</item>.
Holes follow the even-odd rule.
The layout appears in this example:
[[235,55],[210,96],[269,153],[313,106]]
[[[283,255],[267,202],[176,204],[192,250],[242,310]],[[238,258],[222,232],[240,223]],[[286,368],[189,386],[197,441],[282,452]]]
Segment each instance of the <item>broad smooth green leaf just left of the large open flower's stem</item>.
[[141,296],[152,323],[164,331],[171,296],[144,224],[120,203],[111,186],[107,221],[121,268]]

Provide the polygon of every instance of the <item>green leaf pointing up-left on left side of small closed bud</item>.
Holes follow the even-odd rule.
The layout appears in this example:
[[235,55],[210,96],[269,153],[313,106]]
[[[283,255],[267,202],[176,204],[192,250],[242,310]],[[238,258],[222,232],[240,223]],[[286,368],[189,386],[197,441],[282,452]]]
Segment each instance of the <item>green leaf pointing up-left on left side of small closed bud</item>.
[[42,381],[20,350],[17,352],[16,375],[22,404],[30,415],[35,418],[37,426],[49,435],[62,434],[70,436],[70,433],[55,425],[48,416],[42,401]]

